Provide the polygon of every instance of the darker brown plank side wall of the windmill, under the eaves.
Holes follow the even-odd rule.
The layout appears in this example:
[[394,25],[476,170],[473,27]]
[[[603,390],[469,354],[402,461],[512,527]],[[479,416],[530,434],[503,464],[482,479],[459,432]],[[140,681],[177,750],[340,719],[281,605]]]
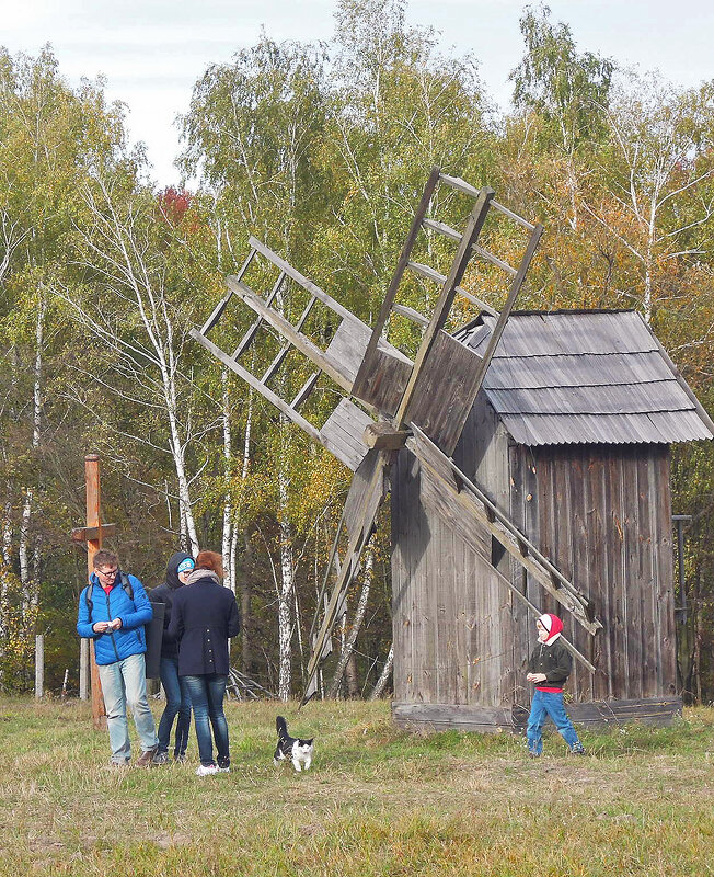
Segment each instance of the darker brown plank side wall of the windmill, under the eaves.
[[[666,445],[513,446],[511,477],[536,503],[511,515],[595,603],[603,629],[595,641],[566,620],[566,635],[597,668],[574,668],[577,701],[671,696],[673,565]],[[532,487],[533,469],[537,486]],[[526,483],[528,488],[523,487]],[[556,612],[536,585],[529,596]]]

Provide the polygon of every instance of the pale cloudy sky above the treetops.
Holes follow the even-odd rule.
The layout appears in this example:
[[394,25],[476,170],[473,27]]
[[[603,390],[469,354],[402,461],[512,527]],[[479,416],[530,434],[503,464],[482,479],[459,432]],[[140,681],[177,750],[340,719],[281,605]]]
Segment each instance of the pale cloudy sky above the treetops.
[[[412,24],[440,32],[442,50],[471,50],[502,106],[508,73],[523,52],[523,1],[411,0]],[[550,0],[551,21],[569,24],[580,52],[641,71],[659,69],[678,86],[714,77],[714,0]],[[329,39],[336,0],[0,0],[0,45],[36,55],[50,43],[60,72],[107,79],[110,100],[128,105],[133,140],[143,140],[161,185],[178,181],[176,114],[212,62],[253,45],[261,25],[283,39]]]

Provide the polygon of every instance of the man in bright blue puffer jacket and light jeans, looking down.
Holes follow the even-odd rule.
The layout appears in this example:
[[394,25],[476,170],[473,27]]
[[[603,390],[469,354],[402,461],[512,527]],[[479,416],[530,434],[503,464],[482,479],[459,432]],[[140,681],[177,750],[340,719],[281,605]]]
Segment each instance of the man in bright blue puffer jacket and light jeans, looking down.
[[147,650],[143,625],[152,617],[153,610],[141,582],[135,576],[119,572],[115,554],[97,551],[90,583],[79,596],[77,633],[94,640],[112,764],[118,767],[128,766],[131,758],[127,704],[141,744],[137,766],[149,767],[157,751],[157,729],[147,699],[143,658]]

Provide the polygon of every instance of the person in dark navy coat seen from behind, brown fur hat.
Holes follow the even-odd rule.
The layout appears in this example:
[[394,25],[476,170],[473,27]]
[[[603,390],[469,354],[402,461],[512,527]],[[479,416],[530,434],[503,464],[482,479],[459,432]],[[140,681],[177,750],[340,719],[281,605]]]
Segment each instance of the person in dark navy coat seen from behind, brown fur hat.
[[[169,636],[178,642],[178,675],[194,708],[200,766],[198,776],[230,770],[228,722],[223,713],[228,682],[228,640],[240,630],[235,595],[223,588],[220,555],[200,551],[187,586],[175,592]],[[214,761],[210,729],[218,751]]]

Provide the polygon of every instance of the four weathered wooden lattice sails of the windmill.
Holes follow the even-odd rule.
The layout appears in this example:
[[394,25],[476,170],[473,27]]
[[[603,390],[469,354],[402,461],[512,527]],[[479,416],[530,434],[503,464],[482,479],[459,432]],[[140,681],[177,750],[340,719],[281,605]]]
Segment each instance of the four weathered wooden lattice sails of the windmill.
[[[471,209],[462,230],[457,230],[434,216],[427,217],[435,193],[441,186],[471,200]],[[492,557],[485,556],[483,538],[475,539],[474,533],[490,534],[502,546],[502,555],[504,551],[508,553],[522,566],[530,579],[538,582],[589,635],[595,635],[601,627],[594,617],[587,595],[526,538],[504,511],[452,459],[457,442],[483,385],[543,231],[542,226],[527,221],[495,201],[494,194],[488,187],[477,190],[461,179],[441,173],[438,168],[433,169],[378,320],[371,329],[264,243],[251,237],[251,250],[241,270],[238,275],[227,278],[226,296],[200,331],[192,332],[194,339],[214,356],[354,471],[341,523],[341,531],[346,531],[347,548],[335,565],[338,569],[336,582],[314,637],[304,699],[315,692],[318,668],[329,653],[331,631],[343,611],[347,588],[359,570],[362,549],[373,531],[376,516],[387,496],[387,476],[394,452],[402,447],[414,455],[421,470],[428,475],[425,483],[435,486],[431,494],[434,508],[483,560],[491,563]],[[513,224],[514,232],[518,231],[523,238],[522,255],[517,266],[511,266],[488,252],[479,242],[484,224],[494,214],[498,215],[500,221]],[[456,254],[446,275],[412,260],[415,243],[425,231],[444,236],[456,247]],[[245,282],[245,274],[256,257],[266,260],[278,272],[277,280],[264,295],[256,294]],[[499,314],[460,286],[472,259],[486,260],[509,275],[508,296]],[[398,291],[407,271],[440,287],[430,314],[419,314],[398,303]],[[279,307],[283,285],[288,280],[301,287],[308,296],[295,323],[288,321]],[[483,353],[476,354],[472,348],[445,331],[457,296],[465,297],[495,321]],[[226,352],[207,335],[219,322],[233,297],[247,305],[255,312],[256,319],[235,350]],[[301,331],[318,303],[326,306],[338,323],[325,350]],[[383,337],[395,315],[411,320],[421,330],[421,342],[413,360]],[[262,329],[277,332],[283,343],[264,374],[257,377],[249,371],[245,363],[250,360],[250,351]],[[295,398],[288,401],[272,388],[272,384],[286,357],[293,351],[307,356],[316,366],[316,371],[310,375]],[[326,375],[337,385],[342,398],[324,424],[318,429],[303,417],[301,410],[321,375]],[[338,553],[339,539],[338,533],[333,556]],[[534,615],[540,614],[540,607],[520,589],[514,586],[508,577],[500,574],[497,581],[525,603],[528,611]],[[573,646],[569,648],[588,670],[594,670],[584,654]]]

